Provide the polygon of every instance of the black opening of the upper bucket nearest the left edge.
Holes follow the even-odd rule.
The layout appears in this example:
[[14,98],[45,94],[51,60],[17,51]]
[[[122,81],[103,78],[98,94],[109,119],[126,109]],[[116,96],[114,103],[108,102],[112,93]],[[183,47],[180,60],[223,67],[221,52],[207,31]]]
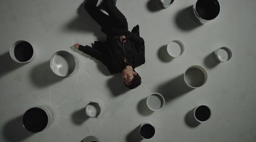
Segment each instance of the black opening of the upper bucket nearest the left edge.
[[30,43],[22,41],[14,48],[14,55],[20,62],[26,62],[33,56],[34,50]]

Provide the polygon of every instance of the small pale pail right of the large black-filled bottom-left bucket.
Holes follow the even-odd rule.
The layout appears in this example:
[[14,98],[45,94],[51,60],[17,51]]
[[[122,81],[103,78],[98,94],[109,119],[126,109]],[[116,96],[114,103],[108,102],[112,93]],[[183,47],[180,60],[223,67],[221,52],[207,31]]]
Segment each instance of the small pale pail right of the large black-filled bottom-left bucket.
[[85,112],[88,117],[98,118],[101,113],[100,104],[96,102],[90,102],[86,105]]

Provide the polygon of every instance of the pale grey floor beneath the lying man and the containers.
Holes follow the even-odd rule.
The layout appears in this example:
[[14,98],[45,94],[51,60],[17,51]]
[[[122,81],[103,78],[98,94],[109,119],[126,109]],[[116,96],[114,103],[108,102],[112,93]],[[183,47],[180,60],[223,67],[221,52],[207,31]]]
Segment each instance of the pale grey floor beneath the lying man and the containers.
[[[191,8],[196,0],[175,0],[166,9],[156,0],[118,0],[131,30],[140,25],[145,39],[146,63],[136,68],[140,87],[127,90],[121,75],[109,75],[99,61],[72,48],[91,45],[106,36],[83,10],[84,1],[0,1],[0,141],[82,141],[96,136],[100,141],[226,141],[256,139],[256,1],[220,0],[220,15],[200,25]],[[29,41],[36,58],[18,64],[9,55],[15,41]],[[184,43],[182,56],[170,59],[166,45]],[[211,53],[221,46],[232,50],[232,59],[216,64]],[[79,57],[81,68],[59,78],[49,67],[53,53],[65,50]],[[208,80],[189,90],[184,71],[193,65],[205,67]],[[145,98],[161,93],[166,105],[149,111]],[[102,104],[99,118],[88,118],[84,107],[90,101]],[[22,127],[22,115],[31,107],[49,104],[56,120],[45,131],[32,134]],[[189,112],[200,104],[212,110],[208,122],[192,124]],[[141,139],[138,126],[154,123],[152,139]],[[253,140],[254,139],[254,140]]]

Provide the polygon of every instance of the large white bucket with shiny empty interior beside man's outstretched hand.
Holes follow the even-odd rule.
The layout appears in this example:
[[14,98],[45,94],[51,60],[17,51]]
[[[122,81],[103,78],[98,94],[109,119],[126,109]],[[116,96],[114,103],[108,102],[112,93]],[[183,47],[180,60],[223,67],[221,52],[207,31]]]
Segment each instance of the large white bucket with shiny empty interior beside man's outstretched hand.
[[59,51],[52,55],[50,67],[58,76],[72,76],[80,67],[79,59],[67,51]]

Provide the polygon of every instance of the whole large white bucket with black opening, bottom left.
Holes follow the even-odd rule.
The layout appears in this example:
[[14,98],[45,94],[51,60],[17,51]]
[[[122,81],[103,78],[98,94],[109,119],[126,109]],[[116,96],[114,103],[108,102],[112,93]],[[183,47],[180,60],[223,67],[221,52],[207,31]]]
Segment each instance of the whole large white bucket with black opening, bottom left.
[[24,113],[22,124],[29,132],[41,132],[54,122],[55,115],[54,109],[47,104],[36,106]]

